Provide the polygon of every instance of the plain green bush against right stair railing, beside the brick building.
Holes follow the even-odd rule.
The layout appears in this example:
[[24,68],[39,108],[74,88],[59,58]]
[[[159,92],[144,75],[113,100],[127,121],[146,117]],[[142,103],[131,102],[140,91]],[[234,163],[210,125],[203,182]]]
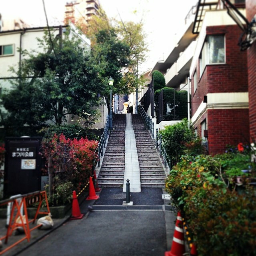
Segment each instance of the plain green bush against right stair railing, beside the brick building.
[[187,119],[174,125],[165,126],[160,134],[171,166],[174,166],[180,160],[180,156],[184,154],[185,143],[190,142],[195,137],[192,129],[188,129]]

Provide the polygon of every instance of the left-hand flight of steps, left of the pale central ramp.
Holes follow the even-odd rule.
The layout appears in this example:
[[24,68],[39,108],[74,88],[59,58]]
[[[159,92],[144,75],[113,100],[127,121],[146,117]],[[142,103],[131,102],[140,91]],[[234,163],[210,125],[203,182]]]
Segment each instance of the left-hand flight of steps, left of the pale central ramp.
[[114,114],[113,130],[98,175],[100,187],[120,187],[124,183],[125,114]]

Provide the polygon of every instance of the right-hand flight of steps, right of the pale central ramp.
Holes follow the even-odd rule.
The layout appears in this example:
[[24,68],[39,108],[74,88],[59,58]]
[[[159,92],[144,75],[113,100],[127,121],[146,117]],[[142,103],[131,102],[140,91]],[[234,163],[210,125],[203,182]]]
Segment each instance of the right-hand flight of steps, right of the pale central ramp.
[[136,146],[140,165],[141,187],[164,187],[165,172],[154,142],[146,130],[140,114],[132,114],[132,125],[136,138]]

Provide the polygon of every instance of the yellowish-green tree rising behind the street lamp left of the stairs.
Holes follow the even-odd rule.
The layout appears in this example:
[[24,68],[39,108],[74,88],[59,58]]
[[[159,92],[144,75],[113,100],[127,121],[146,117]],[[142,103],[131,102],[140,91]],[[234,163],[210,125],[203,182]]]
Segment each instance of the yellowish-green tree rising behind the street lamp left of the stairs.
[[[84,25],[84,20],[78,24],[91,40],[94,58],[107,63],[102,77],[106,80],[110,76],[114,78],[112,92],[134,92],[145,82],[143,77],[138,77],[138,66],[146,60],[148,51],[142,21],[109,19],[103,10],[99,10],[99,14],[90,19],[88,26]],[[109,107],[109,90],[104,96]]]

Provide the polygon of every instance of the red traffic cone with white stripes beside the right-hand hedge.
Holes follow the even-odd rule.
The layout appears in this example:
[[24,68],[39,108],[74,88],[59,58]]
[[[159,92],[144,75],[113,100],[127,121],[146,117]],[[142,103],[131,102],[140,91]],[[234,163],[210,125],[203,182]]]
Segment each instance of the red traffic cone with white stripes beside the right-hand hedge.
[[182,256],[184,252],[185,245],[182,218],[180,212],[178,212],[174,236],[172,239],[172,248],[169,252],[165,252],[165,256]]

